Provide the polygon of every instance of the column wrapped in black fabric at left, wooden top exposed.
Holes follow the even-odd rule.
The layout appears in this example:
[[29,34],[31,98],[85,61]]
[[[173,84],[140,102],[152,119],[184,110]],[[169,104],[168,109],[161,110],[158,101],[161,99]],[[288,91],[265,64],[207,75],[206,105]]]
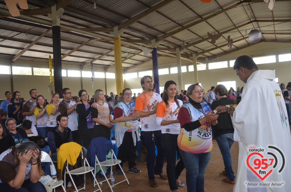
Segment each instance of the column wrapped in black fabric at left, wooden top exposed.
[[61,54],[61,27],[60,18],[64,13],[64,9],[56,10],[56,5],[52,6],[52,50],[53,50],[53,65],[54,65],[54,85],[55,93],[59,93],[62,98],[62,54]]

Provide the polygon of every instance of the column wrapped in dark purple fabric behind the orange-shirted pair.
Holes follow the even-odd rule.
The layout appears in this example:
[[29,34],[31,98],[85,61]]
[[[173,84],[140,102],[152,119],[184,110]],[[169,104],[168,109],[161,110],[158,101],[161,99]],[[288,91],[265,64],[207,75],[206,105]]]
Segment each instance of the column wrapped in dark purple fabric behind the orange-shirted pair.
[[151,44],[152,45],[152,72],[154,75],[154,83],[157,85],[156,93],[160,94],[158,52],[157,52],[157,47],[156,47],[158,44],[159,42],[156,43],[155,39],[152,39],[152,44]]

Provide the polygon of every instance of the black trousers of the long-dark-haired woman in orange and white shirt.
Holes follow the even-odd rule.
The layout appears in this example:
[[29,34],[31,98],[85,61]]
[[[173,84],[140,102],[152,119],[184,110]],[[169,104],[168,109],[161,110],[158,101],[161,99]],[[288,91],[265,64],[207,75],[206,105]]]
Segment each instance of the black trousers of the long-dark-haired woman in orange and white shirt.
[[185,168],[182,158],[180,158],[180,161],[176,165],[178,135],[179,134],[162,133],[162,147],[167,159],[167,175],[170,190],[172,191],[178,189],[176,179],[179,179],[181,172]]

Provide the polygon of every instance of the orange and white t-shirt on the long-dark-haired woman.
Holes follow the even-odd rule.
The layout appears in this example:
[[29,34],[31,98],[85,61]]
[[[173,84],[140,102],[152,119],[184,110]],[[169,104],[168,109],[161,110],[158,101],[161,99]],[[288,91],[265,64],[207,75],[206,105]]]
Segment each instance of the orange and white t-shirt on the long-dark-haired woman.
[[[181,107],[183,105],[183,102],[181,100],[177,100],[179,102],[179,106]],[[169,102],[169,107],[166,106],[166,103],[162,101],[158,104],[157,107],[157,117],[162,117],[163,120],[166,121],[172,121],[176,120],[178,117],[179,109],[176,102]],[[170,133],[170,134],[179,134],[180,133],[180,123],[172,123],[170,125],[161,125],[162,133]]]

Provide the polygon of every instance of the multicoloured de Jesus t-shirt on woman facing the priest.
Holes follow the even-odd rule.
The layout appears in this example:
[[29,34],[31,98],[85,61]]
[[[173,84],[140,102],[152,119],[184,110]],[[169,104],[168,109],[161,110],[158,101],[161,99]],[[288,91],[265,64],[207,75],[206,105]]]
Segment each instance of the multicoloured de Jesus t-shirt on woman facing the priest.
[[[198,119],[201,119],[206,116],[208,112],[211,111],[210,107],[207,104],[201,104],[202,110],[195,109],[191,103],[185,103],[179,111],[179,116],[190,116],[191,122],[194,122]],[[180,122],[181,125],[184,125]],[[181,132],[178,136],[178,146],[183,151],[189,153],[205,153],[212,150],[212,130],[210,128],[211,122],[208,121],[201,125],[199,128],[192,131],[186,131],[181,129]],[[182,126],[183,128],[183,126]]]

